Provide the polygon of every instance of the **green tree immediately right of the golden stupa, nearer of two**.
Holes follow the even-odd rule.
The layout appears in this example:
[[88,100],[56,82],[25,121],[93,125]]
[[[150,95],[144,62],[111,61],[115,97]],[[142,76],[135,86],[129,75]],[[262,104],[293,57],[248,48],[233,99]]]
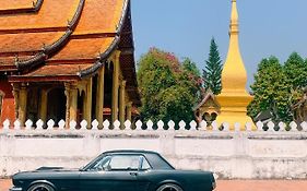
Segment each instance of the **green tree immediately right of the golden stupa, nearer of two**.
[[251,89],[255,97],[248,106],[249,116],[255,118],[261,111],[270,110],[273,120],[292,120],[291,84],[278,58],[270,57],[259,63]]

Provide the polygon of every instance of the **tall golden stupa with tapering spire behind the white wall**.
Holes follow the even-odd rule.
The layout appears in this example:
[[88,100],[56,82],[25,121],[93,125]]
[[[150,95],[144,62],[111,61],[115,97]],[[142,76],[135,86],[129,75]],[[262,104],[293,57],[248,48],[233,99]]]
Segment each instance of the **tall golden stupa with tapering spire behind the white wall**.
[[252,96],[246,91],[247,73],[239,50],[236,0],[232,0],[232,7],[229,49],[222,71],[222,93],[216,97],[221,106],[216,122],[220,126],[224,122],[228,123],[231,130],[234,130],[235,123],[240,124],[240,130],[245,130],[246,123],[249,123],[255,130],[251,118],[247,116],[247,106],[252,100]]

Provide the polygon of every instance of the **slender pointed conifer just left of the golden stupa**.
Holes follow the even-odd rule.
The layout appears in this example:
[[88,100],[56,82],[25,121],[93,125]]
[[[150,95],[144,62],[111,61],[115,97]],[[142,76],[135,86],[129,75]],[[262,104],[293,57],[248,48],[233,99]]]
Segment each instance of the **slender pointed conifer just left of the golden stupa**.
[[209,88],[213,94],[217,95],[222,91],[222,60],[214,38],[211,39],[209,59],[205,61],[205,69],[203,70],[203,84],[205,91]]

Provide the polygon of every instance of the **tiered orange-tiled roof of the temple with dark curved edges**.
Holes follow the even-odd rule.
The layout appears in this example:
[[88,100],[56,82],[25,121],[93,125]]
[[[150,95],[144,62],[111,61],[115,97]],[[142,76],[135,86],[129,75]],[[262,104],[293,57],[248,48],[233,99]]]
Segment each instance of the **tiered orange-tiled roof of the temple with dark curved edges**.
[[127,93],[137,88],[129,0],[14,0],[0,3],[0,73],[10,82],[79,81],[115,50]]

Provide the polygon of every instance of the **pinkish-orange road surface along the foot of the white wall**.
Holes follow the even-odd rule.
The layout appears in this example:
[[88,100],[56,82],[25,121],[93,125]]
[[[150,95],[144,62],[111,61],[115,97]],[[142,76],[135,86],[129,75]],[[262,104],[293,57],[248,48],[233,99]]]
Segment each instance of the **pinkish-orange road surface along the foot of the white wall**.
[[[0,179],[0,191],[8,191],[11,180]],[[215,191],[305,191],[306,180],[217,180]]]

